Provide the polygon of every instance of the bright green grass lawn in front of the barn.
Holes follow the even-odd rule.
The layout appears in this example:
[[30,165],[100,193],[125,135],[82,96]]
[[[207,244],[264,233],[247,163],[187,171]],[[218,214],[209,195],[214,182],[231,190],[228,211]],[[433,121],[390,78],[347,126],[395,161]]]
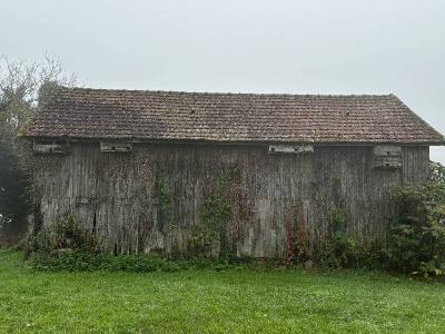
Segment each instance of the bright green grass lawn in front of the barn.
[[377,273],[42,273],[0,250],[0,333],[438,333],[445,285]]

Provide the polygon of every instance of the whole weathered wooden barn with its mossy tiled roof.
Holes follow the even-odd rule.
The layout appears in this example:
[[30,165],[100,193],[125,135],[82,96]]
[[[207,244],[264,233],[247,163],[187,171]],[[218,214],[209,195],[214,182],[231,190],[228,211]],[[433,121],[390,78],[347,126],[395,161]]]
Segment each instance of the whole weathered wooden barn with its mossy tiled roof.
[[60,88],[29,125],[44,227],[115,253],[283,257],[334,232],[385,243],[390,190],[444,137],[394,95]]

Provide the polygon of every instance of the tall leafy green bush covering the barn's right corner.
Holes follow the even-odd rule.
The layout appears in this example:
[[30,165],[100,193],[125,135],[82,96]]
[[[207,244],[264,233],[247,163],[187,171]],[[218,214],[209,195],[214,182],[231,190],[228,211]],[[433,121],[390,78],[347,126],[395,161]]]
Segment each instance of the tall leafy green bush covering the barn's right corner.
[[445,276],[445,169],[432,164],[431,179],[394,190],[399,213],[390,227],[386,266],[405,274]]

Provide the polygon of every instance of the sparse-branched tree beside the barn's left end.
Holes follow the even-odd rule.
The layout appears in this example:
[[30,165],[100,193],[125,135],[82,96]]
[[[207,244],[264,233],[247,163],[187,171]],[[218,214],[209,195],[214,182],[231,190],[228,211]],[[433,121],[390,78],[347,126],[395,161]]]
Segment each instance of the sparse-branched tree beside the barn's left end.
[[1,236],[26,233],[30,210],[29,155],[18,132],[59,86],[76,84],[76,76],[66,76],[58,58],[11,62],[0,57],[0,242]]

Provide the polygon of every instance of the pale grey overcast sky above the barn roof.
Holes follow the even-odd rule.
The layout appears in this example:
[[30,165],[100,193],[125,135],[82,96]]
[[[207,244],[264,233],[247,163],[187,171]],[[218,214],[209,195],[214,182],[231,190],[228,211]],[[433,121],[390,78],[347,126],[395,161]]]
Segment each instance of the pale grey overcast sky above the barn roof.
[[445,134],[444,0],[0,0],[0,31],[86,87],[393,92]]

